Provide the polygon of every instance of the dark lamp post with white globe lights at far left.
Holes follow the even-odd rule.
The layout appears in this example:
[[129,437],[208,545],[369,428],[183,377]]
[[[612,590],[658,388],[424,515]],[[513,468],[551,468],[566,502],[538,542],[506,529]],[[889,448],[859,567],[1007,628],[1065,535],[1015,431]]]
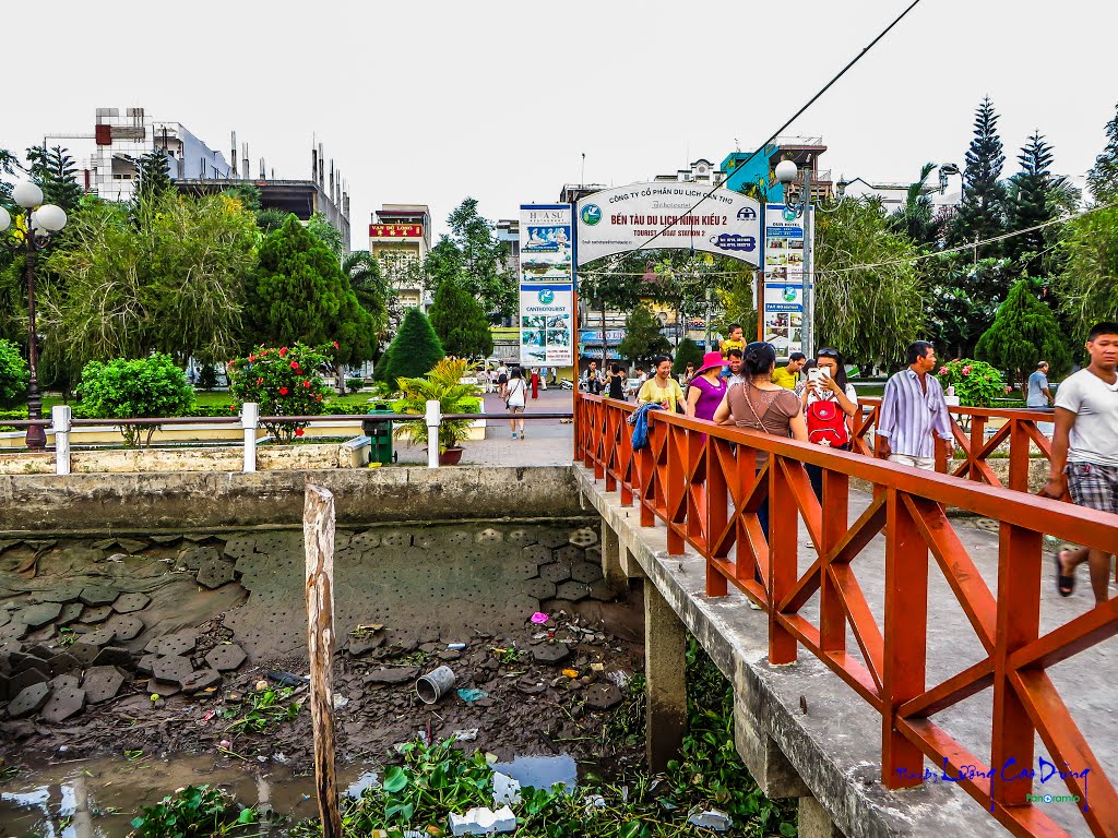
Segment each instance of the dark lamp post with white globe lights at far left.
[[[27,316],[28,340],[27,359],[31,371],[31,380],[27,384],[27,418],[42,418],[42,399],[39,397],[39,346],[35,326],[35,259],[36,254],[50,242],[50,237],[66,226],[66,211],[61,207],[42,202],[42,190],[30,181],[17,183],[11,190],[11,198],[23,208],[23,223],[16,235],[9,239],[0,239],[0,244],[12,253],[22,253],[27,274]],[[0,232],[11,226],[11,215],[0,207]],[[27,429],[27,447],[42,450],[47,447],[47,432],[41,426],[32,425]]]

